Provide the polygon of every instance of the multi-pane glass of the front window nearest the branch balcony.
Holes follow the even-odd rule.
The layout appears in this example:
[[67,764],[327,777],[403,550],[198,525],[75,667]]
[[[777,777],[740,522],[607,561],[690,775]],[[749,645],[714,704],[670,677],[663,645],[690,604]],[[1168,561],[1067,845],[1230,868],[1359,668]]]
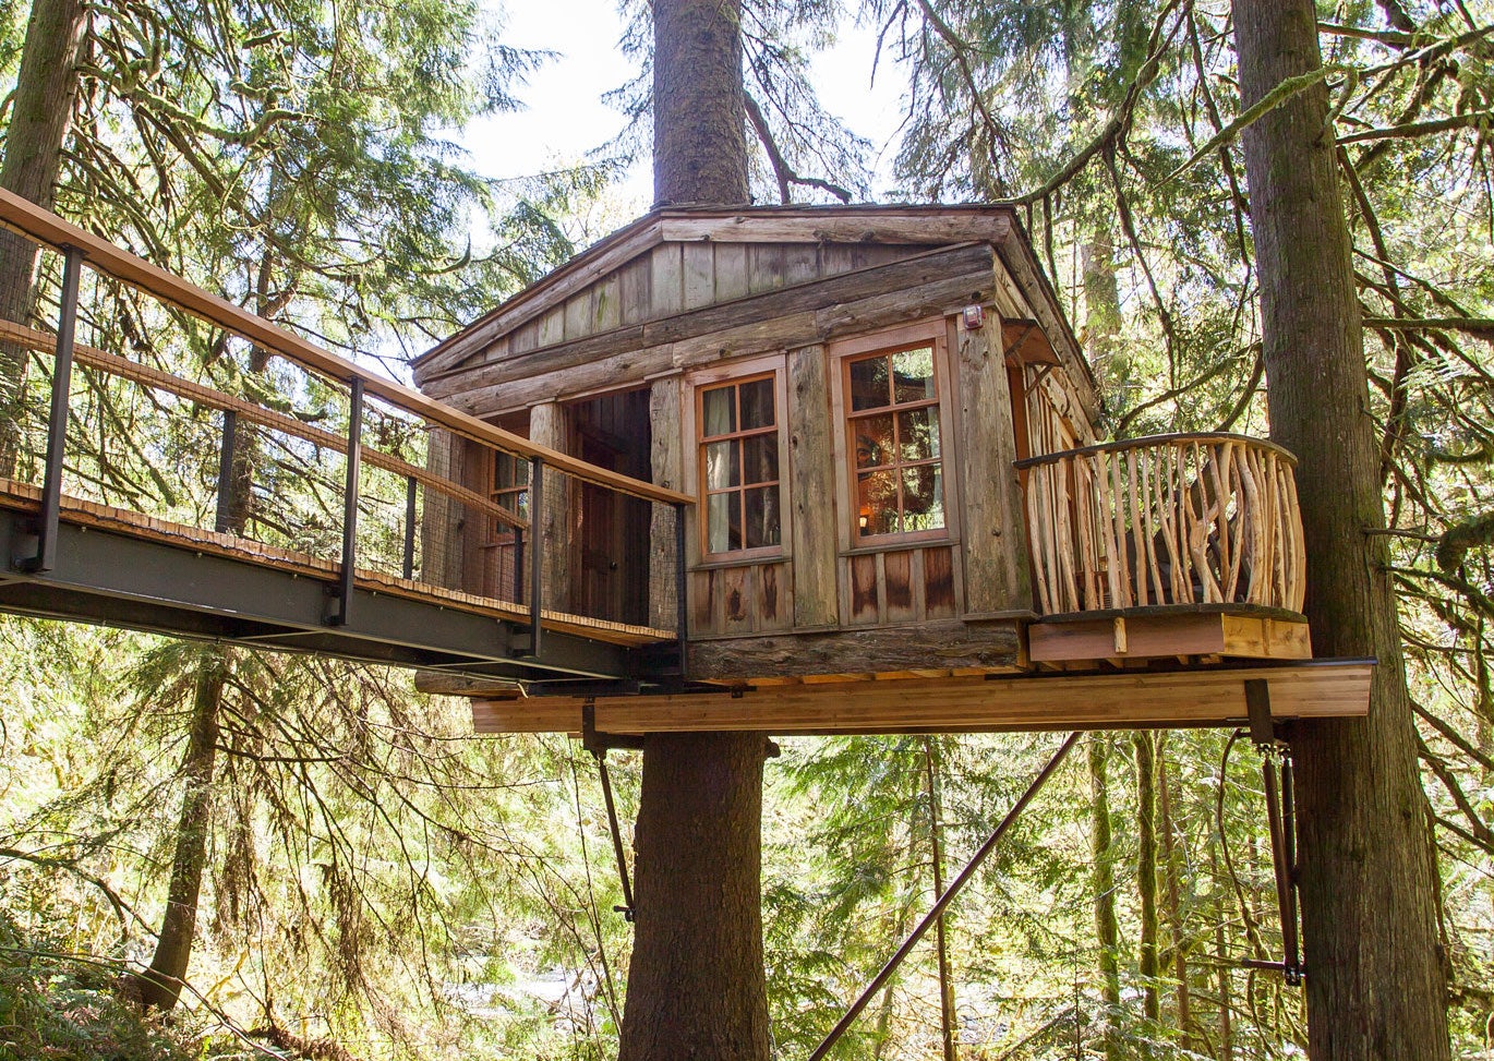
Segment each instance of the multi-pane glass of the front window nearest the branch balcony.
[[856,538],[944,528],[934,347],[847,360]]

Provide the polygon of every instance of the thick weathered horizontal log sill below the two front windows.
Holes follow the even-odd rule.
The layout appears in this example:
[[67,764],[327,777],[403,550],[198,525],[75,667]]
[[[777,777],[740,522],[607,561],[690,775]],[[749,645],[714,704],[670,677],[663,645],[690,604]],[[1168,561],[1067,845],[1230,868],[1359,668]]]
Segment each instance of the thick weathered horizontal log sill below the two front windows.
[[690,644],[690,677],[704,681],[808,674],[1016,666],[1016,623],[959,620],[861,631],[719,638]]

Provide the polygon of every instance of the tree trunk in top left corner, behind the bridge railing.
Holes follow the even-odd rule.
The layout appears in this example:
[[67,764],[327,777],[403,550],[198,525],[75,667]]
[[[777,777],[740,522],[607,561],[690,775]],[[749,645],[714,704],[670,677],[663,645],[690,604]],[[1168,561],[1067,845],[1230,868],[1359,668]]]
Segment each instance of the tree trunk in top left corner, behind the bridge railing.
[[[0,188],[51,209],[78,96],[82,0],[34,0],[10,102]],[[0,230],[0,318],[31,323],[39,248]],[[15,468],[27,351],[0,344],[0,475]]]

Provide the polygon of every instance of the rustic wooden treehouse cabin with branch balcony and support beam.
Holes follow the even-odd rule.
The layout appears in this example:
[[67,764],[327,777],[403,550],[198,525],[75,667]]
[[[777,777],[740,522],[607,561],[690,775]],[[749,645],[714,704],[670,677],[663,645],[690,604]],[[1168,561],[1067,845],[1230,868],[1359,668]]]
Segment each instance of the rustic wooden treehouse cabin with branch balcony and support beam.
[[1277,713],[1364,710],[1366,663],[1306,665],[1292,456],[1100,444],[1094,375],[1011,208],[657,209],[415,381],[693,501],[433,439],[433,471],[514,516],[427,505],[439,580],[613,623],[675,681],[426,680],[474,696],[480,729],[574,731],[583,707],[617,732],[1034,728],[1079,702],[1094,725],[1185,725],[1245,717],[1261,663]]

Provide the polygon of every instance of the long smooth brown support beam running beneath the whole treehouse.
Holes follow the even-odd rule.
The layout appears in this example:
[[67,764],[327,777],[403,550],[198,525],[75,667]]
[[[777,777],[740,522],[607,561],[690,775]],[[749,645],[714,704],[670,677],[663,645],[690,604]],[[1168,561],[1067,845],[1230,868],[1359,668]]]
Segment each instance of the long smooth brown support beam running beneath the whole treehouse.
[[[1373,661],[1325,659],[1177,669],[991,674],[771,686],[723,693],[596,696],[608,734],[751,729],[771,734],[1002,732],[1247,725],[1246,681],[1271,717],[1363,716]],[[572,696],[475,699],[478,732],[580,732]]]

